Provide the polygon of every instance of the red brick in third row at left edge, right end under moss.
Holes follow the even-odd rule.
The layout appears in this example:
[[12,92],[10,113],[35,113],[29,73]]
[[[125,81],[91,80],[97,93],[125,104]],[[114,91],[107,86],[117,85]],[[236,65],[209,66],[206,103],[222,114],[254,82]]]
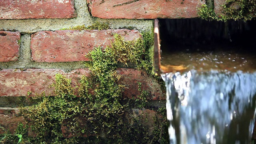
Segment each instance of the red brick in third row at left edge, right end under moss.
[[3,69],[0,71],[0,96],[26,96],[31,91],[31,96],[45,91],[46,96],[53,95],[53,88],[49,88],[54,82],[55,74],[60,73],[78,81],[79,76],[88,74],[88,70],[78,69],[64,72],[59,69]]

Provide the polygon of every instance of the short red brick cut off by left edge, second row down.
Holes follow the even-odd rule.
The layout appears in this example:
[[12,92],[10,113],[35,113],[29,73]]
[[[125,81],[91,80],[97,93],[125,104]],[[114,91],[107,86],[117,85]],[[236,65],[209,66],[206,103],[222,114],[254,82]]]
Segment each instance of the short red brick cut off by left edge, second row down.
[[0,62],[18,60],[20,32],[0,31]]

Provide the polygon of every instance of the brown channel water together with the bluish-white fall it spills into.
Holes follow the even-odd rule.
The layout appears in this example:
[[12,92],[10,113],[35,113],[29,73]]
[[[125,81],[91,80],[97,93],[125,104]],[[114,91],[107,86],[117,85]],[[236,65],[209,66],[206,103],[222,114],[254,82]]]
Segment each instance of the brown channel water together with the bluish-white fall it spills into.
[[255,122],[256,56],[250,52],[184,49],[163,54],[170,144],[249,144]]

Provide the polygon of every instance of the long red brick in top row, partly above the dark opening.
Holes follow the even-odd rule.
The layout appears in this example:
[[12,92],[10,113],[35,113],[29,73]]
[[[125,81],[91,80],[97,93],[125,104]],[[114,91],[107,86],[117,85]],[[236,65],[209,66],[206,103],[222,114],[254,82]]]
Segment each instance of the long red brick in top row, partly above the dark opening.
[[94,17],[112,19],[195,18],[205,0],[87,0]]

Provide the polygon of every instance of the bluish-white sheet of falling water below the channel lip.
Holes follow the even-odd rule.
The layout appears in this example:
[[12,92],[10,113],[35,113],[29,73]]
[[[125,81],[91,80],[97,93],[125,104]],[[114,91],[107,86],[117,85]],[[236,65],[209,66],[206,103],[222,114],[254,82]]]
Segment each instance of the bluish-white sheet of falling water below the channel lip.
[[162,74],[170,144],[244,144],[256,114],[256,73]]

